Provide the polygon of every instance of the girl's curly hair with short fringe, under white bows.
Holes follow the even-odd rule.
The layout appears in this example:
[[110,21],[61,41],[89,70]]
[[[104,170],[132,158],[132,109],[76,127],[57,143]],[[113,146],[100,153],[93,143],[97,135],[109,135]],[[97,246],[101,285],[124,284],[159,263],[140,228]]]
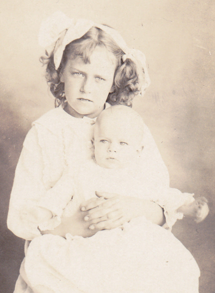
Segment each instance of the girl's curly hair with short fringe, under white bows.
[[132,100],[138,94],[138,76],[135,63],[126,59],[122,62],[124,52],[116,45],[114,40],[102,29],[92,27],[81,38],[69,43],[64,50],[59,68],[55,69],[54,55],[41,56],[40,61],[46,66],[46,80],[50,87],[50,92],[55,97],[55,107],[61,105],[65,100],[64,83],[60,81],[60,72],[64,68],[67,59],[75,59],[77,56],[83,58],[85,63],[90,63],[90,56],[97,47],[104,47],[113,53],[117,60],[114,74],[114,90],[107,97],[107,102],[111,105],[132,106]]

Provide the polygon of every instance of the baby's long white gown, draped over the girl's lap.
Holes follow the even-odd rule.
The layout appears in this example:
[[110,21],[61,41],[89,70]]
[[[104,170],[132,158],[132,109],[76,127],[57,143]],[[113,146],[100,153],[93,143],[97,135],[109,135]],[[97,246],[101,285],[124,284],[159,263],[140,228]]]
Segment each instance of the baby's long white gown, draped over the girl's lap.
[[[158,203],[158,194],[160,201],[168,201],[168,197],[168,202],[170,197],[177,201],[178,190],[155,191],[147,175],[147,168],[144,172],[103,169],[89,161],[76,170],[74,194],[63,217],[95,196],[96,190],[128,196],[133,192],[132,196]],[[66,240],[53,235],[38,237],[28,248],[25,272],[35,293],[198,292],[199,268],[190,252],[171,232],[143,216],[88,238],[71,234]]]

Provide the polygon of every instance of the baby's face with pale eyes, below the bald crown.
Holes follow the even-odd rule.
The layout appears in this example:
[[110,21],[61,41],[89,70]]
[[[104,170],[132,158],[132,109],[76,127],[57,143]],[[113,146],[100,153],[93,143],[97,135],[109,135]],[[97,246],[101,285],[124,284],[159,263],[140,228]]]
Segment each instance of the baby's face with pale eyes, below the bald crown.
[[108,169],[129,167],[142,150],[139,131],[123,122],[101,121],[94,135],[94,155],[98,165]]

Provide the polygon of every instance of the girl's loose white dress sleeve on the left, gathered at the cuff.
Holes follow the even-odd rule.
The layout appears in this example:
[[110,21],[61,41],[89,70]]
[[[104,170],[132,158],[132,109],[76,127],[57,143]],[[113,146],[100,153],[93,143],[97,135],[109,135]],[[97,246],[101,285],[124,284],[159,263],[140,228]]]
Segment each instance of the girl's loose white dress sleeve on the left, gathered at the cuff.
[[[52,142],[53,139],[51,137]],[[54,155],[51,152],[50,148],[50,156]],[[33,126],[25,138],[16,167],[7,218],[8,228],[26,240],[40,236],[39,229],[51,230],[58,226],[63,209],[72,198],[72,178],[61,174],[53,186],[47,184],[44,182],[46,165],[38,130]],[[68,188],[64,188],[64,184]]]

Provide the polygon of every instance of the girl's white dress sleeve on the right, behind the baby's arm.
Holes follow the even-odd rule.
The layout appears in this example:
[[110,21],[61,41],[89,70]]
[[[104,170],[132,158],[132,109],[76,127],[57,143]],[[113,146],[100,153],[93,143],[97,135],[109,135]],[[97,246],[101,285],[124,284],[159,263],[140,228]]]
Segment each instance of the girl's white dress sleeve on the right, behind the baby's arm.
[[194,194],[182,193],[178,189],[169,187],[169,172],[162,160],[156,143],[150,133],[150,130],[144,125],[143,138],[143,168],[147,173],[147,184],[149,187],[149,196],[164,209],[166,223],[164,228],[169,230],[177,221],[182,219],[183,214],[177,212],[178,208],[184,204],[189,204],[195,199]]

